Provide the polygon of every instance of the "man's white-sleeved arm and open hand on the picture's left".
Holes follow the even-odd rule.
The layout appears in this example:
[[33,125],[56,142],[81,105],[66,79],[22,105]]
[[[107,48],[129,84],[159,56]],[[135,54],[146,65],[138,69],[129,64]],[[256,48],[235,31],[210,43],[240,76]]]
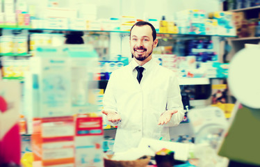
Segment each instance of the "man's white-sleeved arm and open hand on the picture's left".
[[106,91],[103,97],[103,106],[104,109],[101,111],[104,113],[104,121],[106,125],[118,125],[121,121],[120,115],[117,113],[117,102],[115,100],[115,95],[113,92],[113,86],[115,86],[115,77],[114,73],[111,74],[111,77],[106,86]]

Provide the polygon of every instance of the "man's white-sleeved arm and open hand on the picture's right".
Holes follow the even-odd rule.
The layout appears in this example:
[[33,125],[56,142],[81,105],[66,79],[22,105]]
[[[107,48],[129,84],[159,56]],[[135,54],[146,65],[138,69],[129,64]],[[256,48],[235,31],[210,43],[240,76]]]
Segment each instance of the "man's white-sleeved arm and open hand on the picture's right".
[[159,118],[159,125],[175,127],[184,119],[184,108],[181,102],[181,90],[177,77],[170,78],[166,111]]

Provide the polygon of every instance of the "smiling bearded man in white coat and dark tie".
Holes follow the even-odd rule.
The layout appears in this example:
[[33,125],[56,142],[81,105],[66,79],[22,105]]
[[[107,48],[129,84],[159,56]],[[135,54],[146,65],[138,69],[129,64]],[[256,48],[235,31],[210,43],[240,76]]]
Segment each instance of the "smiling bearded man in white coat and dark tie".
[[[177,77],[152,59],[157,44],[152,24],[134,24],[130,31],[133,60],[115,70],[108,81],[102,113],[110,125],[117,125],[114,152],[138,147],[143,137],[169,141],[169,127],[184,119]],[[143,67],[143,72],[136,67]]]

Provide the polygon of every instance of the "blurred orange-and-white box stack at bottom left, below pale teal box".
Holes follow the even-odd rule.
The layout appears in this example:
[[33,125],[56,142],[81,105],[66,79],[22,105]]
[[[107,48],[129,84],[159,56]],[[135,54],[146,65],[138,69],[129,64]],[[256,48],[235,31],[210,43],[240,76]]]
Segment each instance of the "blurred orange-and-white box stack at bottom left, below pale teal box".
[[74,166],[74,118],[42,118],[33,124],[33,161],[42,166]]

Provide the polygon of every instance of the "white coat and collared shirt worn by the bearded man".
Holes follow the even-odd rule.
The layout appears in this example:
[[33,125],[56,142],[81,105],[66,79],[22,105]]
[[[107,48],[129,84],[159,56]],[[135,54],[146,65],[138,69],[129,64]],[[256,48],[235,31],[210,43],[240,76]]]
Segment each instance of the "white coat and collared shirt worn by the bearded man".
[[[169,127],[179,125],[184,119],[180,88],[174,72],[151,59],[142,66],[145,70],[139,84],[137,66],[138,63],[132,60],[129,65],[115,70],[104,93],[104,110],[115,111],[122,119],[117,125],[114,152],[138,147],[143,137],[163,137],[163,140],[169,141]],[[161,114],[172,109],[178,112],[170,122],[158,125]]]

